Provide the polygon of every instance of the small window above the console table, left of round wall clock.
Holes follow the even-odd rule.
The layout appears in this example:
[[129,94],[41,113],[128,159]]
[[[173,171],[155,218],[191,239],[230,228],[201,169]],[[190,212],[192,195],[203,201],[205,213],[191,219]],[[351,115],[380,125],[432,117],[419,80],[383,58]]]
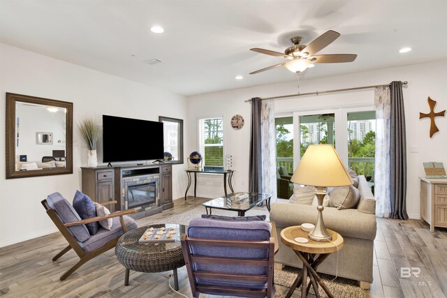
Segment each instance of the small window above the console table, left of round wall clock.
[[199,119],[198,141],[203,165],[223,167],[223,118]]

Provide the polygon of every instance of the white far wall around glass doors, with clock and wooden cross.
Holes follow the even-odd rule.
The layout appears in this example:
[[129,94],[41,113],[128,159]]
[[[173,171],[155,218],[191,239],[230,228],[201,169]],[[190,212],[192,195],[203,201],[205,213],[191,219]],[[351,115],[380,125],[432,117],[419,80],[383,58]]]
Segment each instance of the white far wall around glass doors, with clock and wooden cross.
[[[316,66],[318,67],[318,66]],[[270,75],[274,75],[271,70]],[[312,71],[312,69],[310,70]],[[264,74],[263,74],[264,75]],[[293,77],[293,75],[291,75]],[[248,78],[249,80],[249,78]],[[427,97],[437,100],[436,112],[447,109],[447,61],[435,61],[427,64],[386,68],[364,73],[323,77],[314,80],[300,80],[300,93],[342,89],[350,87],[388,84],[394,80],[408,81],[404,87],[404,105],[406,115],[407,144],[407,211],[411,218],[419,218],[419,181],[424,175],[423,162],[441,161],[447,167],[447,117],[437,117],[439,133],[429,136],[430,120],[419,119],[419,112],[429,112]],[[235,167],[235,191],[248,191],[249,165],[249,123],[250,104],[244,103],[251,97],[269,97],[298,92],[297,82],[271,84],[246,89],[235,89],[214,94],[203,94],[188,98],[189,131],[186,139],[186,153],[197,149],[196,121],[209,114],[223,114],[224,117],[224,153],[233,154]],[[330,95],[295,97],[275,100],[275,111],[291,113],[298,110],[330,109],[332,107],[365,106],[374,103],[374,91],[361,90],[340,92]],[[245,126],[240,131],[230,127],[234,114],[242,114]],[[418,152],[410,153],[409,148],[416,146]],[[198,182],[198,195],[212,198],[223,193],[219,177],[204,176]],[[190,195],[192,192],[190,191]]]

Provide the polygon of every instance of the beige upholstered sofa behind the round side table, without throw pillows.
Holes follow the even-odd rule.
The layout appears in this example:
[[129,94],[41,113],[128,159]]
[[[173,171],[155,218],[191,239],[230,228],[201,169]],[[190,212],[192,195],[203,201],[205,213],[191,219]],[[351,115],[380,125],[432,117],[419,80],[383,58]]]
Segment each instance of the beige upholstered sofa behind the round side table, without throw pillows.
[[[318,272],[342,276],[360,282],[362,288],[372,283],[372,260],[376,237],[376,201],[364,176],[358,176],[360,200],[356,209],[339,210],[325,207],[323,219],[326,228],[339,232],[344,238],[344,248],[332,253],[319,267]],[[315,206],[291,202],[272,204],[270,220],[276,223],[277,234],[291,225],[316,223],[318,211]],[[302,262],[291,248],[279,241],[279,252],[274,262],[293,267],[302,267]],[[337,269],[338,268],[338,269]]]

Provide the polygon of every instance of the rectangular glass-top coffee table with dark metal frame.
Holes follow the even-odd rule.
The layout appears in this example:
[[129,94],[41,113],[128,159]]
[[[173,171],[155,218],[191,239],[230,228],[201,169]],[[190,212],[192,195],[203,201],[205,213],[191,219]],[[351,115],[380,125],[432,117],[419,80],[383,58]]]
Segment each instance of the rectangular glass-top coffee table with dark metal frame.
[[245,216],[245,212],[255,207],[258,204],[265,202],[268,211],[270,211],[270,198],[272,195],[268,193],[247,193],[249,196],[247,199],[241,201],[232,200],[236,195],[242,195],[245,193],[230,193],[229,195],[223,195],[214,200],[203,203],[207,214],[212,214],[211,209],[222,209],[237,211],[237,216]]

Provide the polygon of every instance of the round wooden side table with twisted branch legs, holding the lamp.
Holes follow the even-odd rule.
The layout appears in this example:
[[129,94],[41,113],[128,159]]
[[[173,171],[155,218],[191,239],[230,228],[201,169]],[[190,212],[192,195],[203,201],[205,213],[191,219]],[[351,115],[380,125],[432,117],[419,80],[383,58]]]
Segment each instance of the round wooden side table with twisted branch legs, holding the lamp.
[[[301,297],[307,297],[307,292],[312,285],[314,287],[314,292],[316,297],[320,297],[318,294],[318,284],[321,285],[321,288],[326,292],[328,297],[332,298],[334,295],[328,289],[328,286],[325,285],[323,280],[316,273],[317,267],[326,259],[331,253],[335,253],[343,248],[343,237],[332,230],[327,229],[328,232],[332,235],[332,242],[319,242],[309,239],[309,232],[305,232],[301,230],[301,225],[294,225],[292,227],[285,228],[281,230],[281,242],[290,248],[298,255],[298,258],[302,261],[302,274],[297,276],[291,289],[288,291],[286,298],[291,297],[295,288],[297,288],[301,284]],[[309,242],[307,243],[298,243],[295,241],[295,238],[302,237]],[[318,256],[317,256],[318,255]],[[309,285],[307,285],[307,277],[310,279]]]

